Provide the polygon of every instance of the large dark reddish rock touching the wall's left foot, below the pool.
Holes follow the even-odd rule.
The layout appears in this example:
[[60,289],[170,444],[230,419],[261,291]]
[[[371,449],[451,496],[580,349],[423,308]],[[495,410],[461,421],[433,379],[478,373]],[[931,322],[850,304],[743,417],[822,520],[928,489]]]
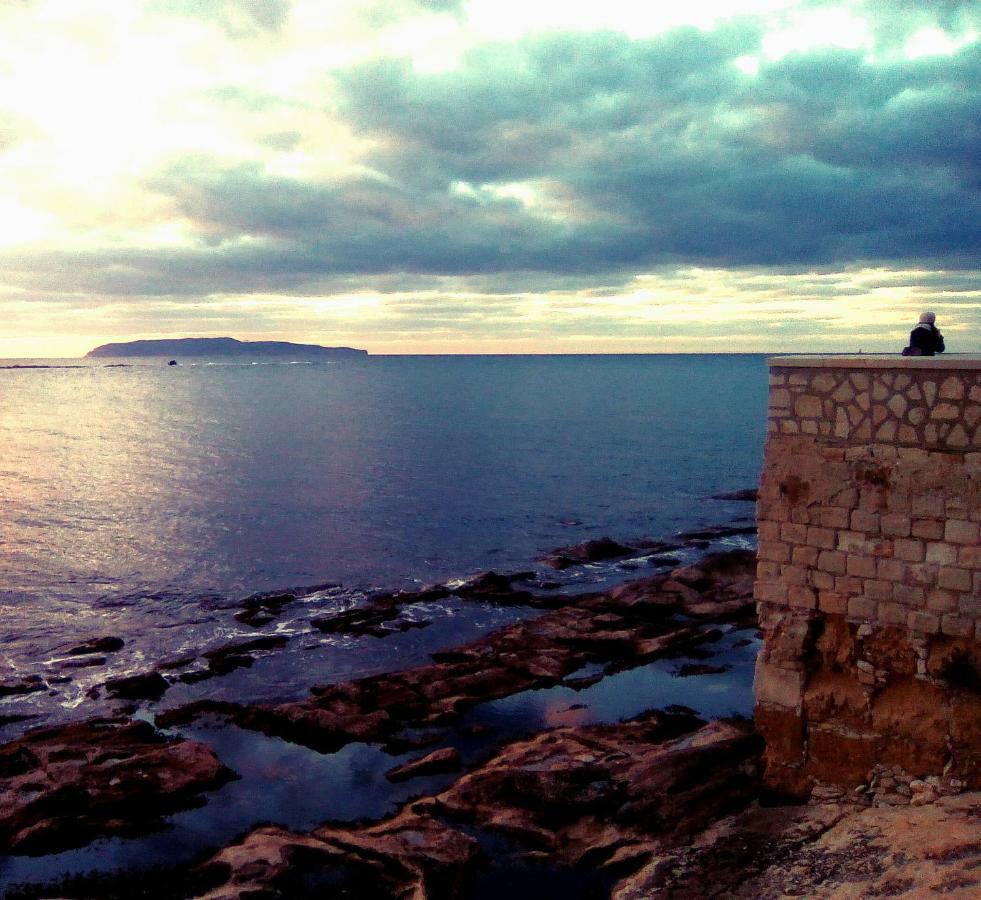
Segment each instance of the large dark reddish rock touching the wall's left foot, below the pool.
[[639,864],[755,798],[761,751],[747,722],[649,713],[512,744],[414,808],[499,831],[563,866]]

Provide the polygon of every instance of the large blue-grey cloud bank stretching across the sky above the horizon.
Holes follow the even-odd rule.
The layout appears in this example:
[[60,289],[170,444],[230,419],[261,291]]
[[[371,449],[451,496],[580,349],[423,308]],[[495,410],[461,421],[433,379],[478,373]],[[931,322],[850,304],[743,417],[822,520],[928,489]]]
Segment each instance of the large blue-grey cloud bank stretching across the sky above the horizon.
[[[339,92],[370,140],[368,174],[312,182],[187,158],[149,186],[194,224],[198,249],[34,256],[23,278],[55,284],[70,267],[80,290],[176,296],[395,276],[616,287],[685,265],[977,266],[981,51],[875,65],[813,52],[743,74],[734,60],[759,45],[747,20],[650,40],[538,36],[439,73],[349,69],[332,76],[331,106]],[[513,182],[545,204],[502,192]]]

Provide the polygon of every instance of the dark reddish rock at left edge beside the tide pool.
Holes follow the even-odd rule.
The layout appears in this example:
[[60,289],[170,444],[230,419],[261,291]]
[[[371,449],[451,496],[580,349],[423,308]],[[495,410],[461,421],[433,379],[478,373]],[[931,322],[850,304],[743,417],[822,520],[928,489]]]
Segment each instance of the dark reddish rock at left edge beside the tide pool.
[[90,719],[0,746],[0,850],[50,853],[159,827],[233,777],[210,748],[147,722]]

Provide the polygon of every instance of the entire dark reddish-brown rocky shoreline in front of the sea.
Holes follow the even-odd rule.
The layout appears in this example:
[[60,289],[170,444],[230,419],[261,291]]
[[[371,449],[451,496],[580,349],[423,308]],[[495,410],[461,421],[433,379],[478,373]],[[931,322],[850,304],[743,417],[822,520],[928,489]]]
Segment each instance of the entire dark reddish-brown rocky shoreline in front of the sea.
[[[570,552],[577,550],[591,552],[557,551],[557,567],[577,562]],[[159,877],[79,875],[47,886],[10,884],[7,896],[479,900],[542,896],[543,884],[568,884],[562,895],[570,898],[617,900],[857,897],[919,888],[968,896],[981,877],[977,795],[941,796],[903,809],[902,819],[861,797],[826,793],[788,805],[763,789],[763,746],[751,721],[706,721],[685,708],[610,724],[566,724],[560,716],[556,727],[502,740],[482,735],[486,724],[472,718],[486,704],[529,692],[586,697],[604,680],[655,661],[677,661],[679,676],[712,677],[725,669],[706,662],[723,635],[755,634],[754,572],[754,554],[732,551],[580,596],[531,590],[528,573],[433,588],[427,600],[452,590],[544,611],[434,653],[429,663],[314,685],[302,700],[202,700],[154,714],[157,679],[121,691],[117,685],[116,696],[150,701],[143,708],[153,725],[99,718],[0,746],[0,852],[48,854],[149,833],[173,810],[207,802],[235,774],[182,733],[200,723],[319,754],[381,746],[406,757],[388,780],[418,790],[381,820],[309,830],[260,824],[257,797],[256,824],[246,833],[223,848],[205,843],[196,859]],[[418,627],[404,610],[419,597],[378,596],[311,624],[384,636]],[[269,621],[293,599],[252,598],[242,615]],[[80,646],[78,656],[112,646]],[[201,671],[221,675],[278,646],[262,636],[238,642]],[[159,671],[147,674],[163,680]],[[929,840],[913,817],[931,829]]]

